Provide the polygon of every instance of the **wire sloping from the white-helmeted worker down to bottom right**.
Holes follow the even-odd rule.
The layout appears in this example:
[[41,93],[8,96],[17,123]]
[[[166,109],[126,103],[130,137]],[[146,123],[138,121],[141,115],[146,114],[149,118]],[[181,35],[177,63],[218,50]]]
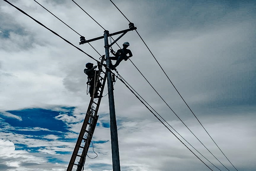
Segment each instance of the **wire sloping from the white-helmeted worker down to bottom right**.
[[170,105],[168,105],[168,103],[163,99],[163,97],[156,91],[156,89],[153,87],[153,85],[147,80],[147,78],[141,73],[141,71],[138,69],[138,67],[131,61],[131,59],[129,59],[130,62],[134,65],[134,67],[138,70],[138,72],[142,75],[142,77],[147,81],[147,83],[151,86],[151,88],[157,93],[157,95],[163,100],[163,102],[168,106],[169,109],[171,109],[171,111],[175,114],[176,117],[178,117],[178,119],[183,123],[183,125],[193,134],[194,137],[196,137],[196,139],[204,146],[205,149],[207,149],[207,151],[209,151],[209,153],[212,154],[212,156],[219,161],[219,163],[221,163],[221,165],[223,165],[228,171],[230,171],[224,164],[222,164],[222,162],[217,159],[217,157],[215,157],[215,155],[204,145],[204,143],[202,141],[199,140],[199,138],[192,132],[191,129],[188,128],[188,126],[184,123],[184,121],[182,121],[182,119],[174,112],[174,110],[170,107]]

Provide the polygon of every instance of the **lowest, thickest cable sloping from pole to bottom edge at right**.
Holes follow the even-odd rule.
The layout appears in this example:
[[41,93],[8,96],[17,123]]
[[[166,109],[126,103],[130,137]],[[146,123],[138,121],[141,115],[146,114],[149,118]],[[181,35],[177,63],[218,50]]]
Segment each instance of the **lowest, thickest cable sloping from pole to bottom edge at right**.
[[[143,104],[143,105],[145,105],[145,107],[183,144],[183,145],[185,145],[185,147],[189,150],[189,151],[191,151],[201,162],[203,162],[204,163],[204,161],[202,161],[186,144],[184,144],[184,142],[182,142],[181,140],[180,140],[180,138],[179,137],[177,137],[176,135],[175,135],[175,133],[173,133],[172,131],[171,131],[171,129],[170,128],[168,128],[168,126],[167,125],[165,125],[164,123],[163,123],[163,121],[161,121],[161,119],[158,117],[158,116],[156,116],[155,115],[155,113],[151,110],[151,109],[149,109],[149,107],[134,93],[134,91],[132,90],[132,89],[130,89],[130,87],[121,79],[121,78],[119,78],[119,77],[117,77],[133,94],[134,94],[134,96],[135,97],[137,97],[138,98],[138,100]],[[212,170],[206,163],[204,163],[204,165],[206,165],[210,170]],[[212,170],[213,171],[213,170]]]

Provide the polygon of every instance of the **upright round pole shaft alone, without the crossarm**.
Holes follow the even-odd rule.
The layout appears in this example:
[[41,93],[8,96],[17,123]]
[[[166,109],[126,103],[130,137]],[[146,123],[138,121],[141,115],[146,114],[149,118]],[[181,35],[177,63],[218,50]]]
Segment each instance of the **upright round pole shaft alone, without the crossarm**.
[[[104,31],[104,42],[105,42],[105,55],[107,67],[111,63],[109,59],[109,31]],[[107,72],[107,81],[108,81],[108,93],[109,93],[109,115],[110,115],[110,137],[111,137],[111,149],[112,149],[112,164],[113,171],[120,171],[120,158],[119,158],[119,149],[118,149],[118,135],[117,135],[117,121],[116,121],[116,112],[115,112],[115,102],[114,102],[114,88],[112,81],[112,74],[110,70]]]

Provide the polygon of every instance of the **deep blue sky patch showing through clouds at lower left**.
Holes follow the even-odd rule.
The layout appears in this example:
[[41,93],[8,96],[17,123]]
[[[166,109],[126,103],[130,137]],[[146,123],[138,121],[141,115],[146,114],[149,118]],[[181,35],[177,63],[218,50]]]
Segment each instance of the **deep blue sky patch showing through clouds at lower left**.
[[[72,115],[74,109],[75,107],[62,107],[60,108],[60,111],[40,108],[6,111],[22,118],[22,120],[15,117],[10,117],[8,115],[4,115],[2,113],[0,128],[2,128],[2,132],[4,133],[13,133],[14,135],[21,136],[24,135],[23,138],[34,139],[35,141],[44,140],[47,143],[48,141],[54,141],[53,139],[57,138],[61,141],[76,142],[76,138],[64,138],[65,134],[69,131],[68,126],[63,121],[55,118],[56,116],[64,113],[67,115]],[[47,135],[52,136],[45,137]],[[45,146],[47,146],[47,144],[45,144]],[[44,146],[27,147],[26,144],[15,143],[16,150],[27,150],[30,153],[38,152],[38,150],[42,147]],[[59,148],[62,147],[65,146],[59,146]],[[69,154],[71,152],[56,151],[56,153]],[[63,161],[53,158],[49,159],[49,161],[53,163],[63,163]]]

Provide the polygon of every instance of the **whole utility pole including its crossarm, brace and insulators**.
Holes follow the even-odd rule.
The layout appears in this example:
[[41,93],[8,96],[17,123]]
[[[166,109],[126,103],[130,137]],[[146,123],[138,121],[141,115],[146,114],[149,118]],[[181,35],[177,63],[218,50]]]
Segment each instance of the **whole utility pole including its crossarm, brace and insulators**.
[[[113,171],[120,171],[120,158],[119,158],[119,148],[118,148],[118,133],[117,133],[117,121],[116,121],[116,112],[115,112],[115,102],[114,102],[114,87],[112,81],[112,72],[110,70],[109,65],[111,64],[111,60],[109,58],[109,47],[111,47],[114,43],[116,43],[120,38],[122,38],[128,31],[136,30],[133,23],[129,23],[129,29],[118,31],[112,34],[109,34],[108,30],[104,31],[104,36],[93,38],[90,40],[85,40],[85,37],[81,36],[79,43],[84,44],[88,42],[92,42],[95,40],[99,40],[104,38],[104,47],[105,47],[105,58],[106,58],[106,73],[107,73],[107,82],[108,82],[108,96],[109,96],[109,115],[110,115],[110,137],[111,137],[111,149],[112,149],[112,164]],[[113,35],[121,34],[114,42],[109,45],[108,38]]]

